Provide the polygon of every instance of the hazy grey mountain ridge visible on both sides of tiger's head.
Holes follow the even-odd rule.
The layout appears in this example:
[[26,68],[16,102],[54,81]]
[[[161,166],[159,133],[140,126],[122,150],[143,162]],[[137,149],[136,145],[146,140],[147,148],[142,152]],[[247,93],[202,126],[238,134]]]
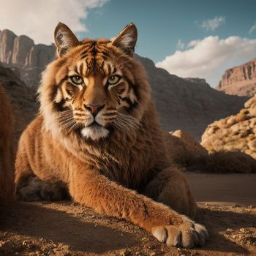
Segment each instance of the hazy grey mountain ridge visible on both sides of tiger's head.
[[[25,82],[19,81],[20,86],[36,91],[42,70],[54,56],[54,45],[34,45],[29,37],[0,31],[0,61],[12,69],[12,75]],[[168,131],[182,129],[200,140],[208,124],[237,113],[248,99],[216,91],[200,78],[170,75],[155,67],[150,59],[138,55],[135,58],[146,69],[160,121]]]

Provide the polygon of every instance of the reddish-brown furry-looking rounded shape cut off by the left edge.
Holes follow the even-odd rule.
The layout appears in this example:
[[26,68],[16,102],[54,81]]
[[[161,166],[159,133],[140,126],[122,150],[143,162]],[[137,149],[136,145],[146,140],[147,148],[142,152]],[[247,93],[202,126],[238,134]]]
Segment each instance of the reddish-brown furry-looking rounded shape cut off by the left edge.
[[12,106],[0,83],[0,206],[14,201],[14,118]]

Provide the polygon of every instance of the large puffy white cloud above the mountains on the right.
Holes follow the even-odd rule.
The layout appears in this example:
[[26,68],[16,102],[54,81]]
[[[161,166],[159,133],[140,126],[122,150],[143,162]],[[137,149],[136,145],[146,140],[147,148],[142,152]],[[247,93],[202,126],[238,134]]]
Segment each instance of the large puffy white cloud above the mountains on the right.
[[176,50],[156,66],[183,78],[206,78],[217,85],[225,69],[256,56],[256,39],[206,37],[189,42],[187,50]]

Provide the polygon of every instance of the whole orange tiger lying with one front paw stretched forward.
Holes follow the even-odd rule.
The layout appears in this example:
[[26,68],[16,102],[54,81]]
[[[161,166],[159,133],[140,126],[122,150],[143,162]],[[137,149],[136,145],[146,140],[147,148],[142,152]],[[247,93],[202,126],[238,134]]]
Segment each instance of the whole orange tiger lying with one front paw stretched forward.
[[82,41],[56,26],[39,113],[19,141],[16,195],[71,197],[169,246],[204,246],[208,231],[192,220],[197,204],[168,160],[146,71],[135,59],[137,38],[134,23],[112,39]]

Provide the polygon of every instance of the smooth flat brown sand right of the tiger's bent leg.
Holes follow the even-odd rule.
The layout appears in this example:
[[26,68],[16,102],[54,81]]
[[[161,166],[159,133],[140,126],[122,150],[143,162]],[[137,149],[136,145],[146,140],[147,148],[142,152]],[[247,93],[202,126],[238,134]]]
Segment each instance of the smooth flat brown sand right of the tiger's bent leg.
[[195,199],[225,206],[256,206],[256,173],[185,173]]

